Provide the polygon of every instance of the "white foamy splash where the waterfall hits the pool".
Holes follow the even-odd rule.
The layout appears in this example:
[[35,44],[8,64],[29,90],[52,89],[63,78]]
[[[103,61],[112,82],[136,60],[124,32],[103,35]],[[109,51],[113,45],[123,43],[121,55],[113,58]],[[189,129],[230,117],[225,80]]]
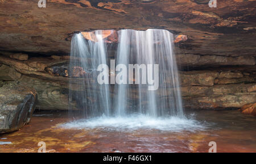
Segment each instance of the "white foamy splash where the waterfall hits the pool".
[[68,129],[106,129],[114,131],[135,131],[138,129],[158,129],[161,131],[201,131],[205,126],[199,121],[185,117],[150,117],[132,115],[127,117],[95,117],[65,123],[61,128]]

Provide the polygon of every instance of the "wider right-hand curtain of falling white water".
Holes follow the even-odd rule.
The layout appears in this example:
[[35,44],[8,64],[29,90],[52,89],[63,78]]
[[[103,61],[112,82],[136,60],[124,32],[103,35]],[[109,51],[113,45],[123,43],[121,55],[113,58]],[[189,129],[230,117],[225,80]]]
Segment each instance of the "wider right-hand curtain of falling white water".
[[140,72],[138,85],[115,85],[114,103],[118,104],[115,111],[119,115],[135,111],[153,117],[183,116],[172,33],[158,29],[120,30],[118,35],[117,64],[125,64],[127,68],[128,64],[145,64],[147,70],[152,69],[148,64],[159,64],[159,89],[148,90],[148,84],[142,84]]

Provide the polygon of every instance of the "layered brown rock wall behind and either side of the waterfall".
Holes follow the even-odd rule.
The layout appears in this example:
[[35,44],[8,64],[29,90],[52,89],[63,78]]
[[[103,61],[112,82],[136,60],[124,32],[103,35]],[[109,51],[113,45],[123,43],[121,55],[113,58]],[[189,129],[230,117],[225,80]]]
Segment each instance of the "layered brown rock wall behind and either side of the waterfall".
[[[20,86],[33,87],[36,90],[38,94],[36,108],[68,110],[68,83],[73,73],[68,70],[68,62],[68,57],[65,56],[31,57],[22,61],[2,55],[0,56],[0,86],[10,81],[18,81]],[[242,63],[242,61],[238,62]],[[246,66],[248,62],[244,62],[241,67],[209,67],[204,70],[180,71],[184,108],[241,108],[244,104],[254,103],[256,69],[254,62],[251,61]],[[79,72],[79,70],[76,71]],[[79,78],[79,74],[77,75]],[[167,78],[166,82],[170,81],[171,79]],[[84,82],[83,79],[77,81],[77,85],[80,82]],[[74,85],[72,90],[79,90],[79,87]],[[164,98],[165,95],[160,96]],[[76,108],[76,102],[72,105]]]

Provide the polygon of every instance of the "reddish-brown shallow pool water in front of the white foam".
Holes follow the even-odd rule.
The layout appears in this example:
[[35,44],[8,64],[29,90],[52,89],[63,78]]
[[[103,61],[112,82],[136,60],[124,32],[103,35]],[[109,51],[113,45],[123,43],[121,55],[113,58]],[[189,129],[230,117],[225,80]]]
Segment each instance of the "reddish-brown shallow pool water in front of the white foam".
[[[256,152],[256,117],[238,111],[195,111],[195,119],[211,124],[205,131],[168,132],[157,129],[112,131],[65,129],[65,113],[36,113],[20,131],[0,134],[0,152],[208,152],[215,141],[217,152]],[[40,114],[40,115],[38,115]],[[45,113],[44,113],[45,114]]]

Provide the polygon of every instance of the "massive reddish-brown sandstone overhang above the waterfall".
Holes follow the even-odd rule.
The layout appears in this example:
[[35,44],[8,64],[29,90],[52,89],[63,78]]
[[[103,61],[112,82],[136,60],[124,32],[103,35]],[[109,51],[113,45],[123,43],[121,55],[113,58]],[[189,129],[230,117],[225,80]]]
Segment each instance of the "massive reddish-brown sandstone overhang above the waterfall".
[[[68,54],[72,33],[164,28],[188,40],[177,54],[255,57],[255,1],[0,1],[0,50]],[[14,10],[15,9],[15,10]]]

